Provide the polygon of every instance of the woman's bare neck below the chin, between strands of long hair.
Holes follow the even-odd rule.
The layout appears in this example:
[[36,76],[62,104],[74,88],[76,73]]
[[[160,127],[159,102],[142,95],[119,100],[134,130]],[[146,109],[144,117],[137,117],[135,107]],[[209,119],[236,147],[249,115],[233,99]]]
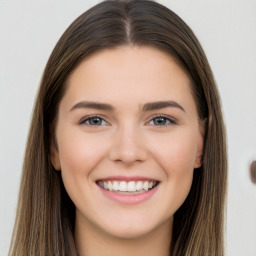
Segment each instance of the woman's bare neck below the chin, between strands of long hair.
[[87,223],[86,226],[76,223],[75,228],[75,242],[79,256],[168,256],[171,236],[172,220],[136,238],[112,236],[102,229],[92,227],[91,223]]

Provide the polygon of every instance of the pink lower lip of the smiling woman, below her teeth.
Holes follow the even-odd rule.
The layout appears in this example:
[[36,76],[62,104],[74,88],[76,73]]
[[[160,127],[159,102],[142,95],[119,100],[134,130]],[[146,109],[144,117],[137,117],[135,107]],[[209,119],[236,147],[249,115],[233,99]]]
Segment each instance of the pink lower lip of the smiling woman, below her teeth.
[[113,201],[116,201],[121,204],[139,204],[150,199],[158,190],[159,184],[147,192],[134,195],[119,194],[116,192],[111,192],[109,190],[103,189],[100,186],[98,187],[104,196]]

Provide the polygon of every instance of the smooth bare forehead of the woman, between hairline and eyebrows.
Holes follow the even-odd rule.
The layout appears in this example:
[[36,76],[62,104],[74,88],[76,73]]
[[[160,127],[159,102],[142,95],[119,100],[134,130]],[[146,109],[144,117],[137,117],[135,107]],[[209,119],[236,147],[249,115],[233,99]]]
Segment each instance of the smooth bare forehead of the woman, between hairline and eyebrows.
[[91,55],[70,76],[64,98],[113,104],[187,101],[190,79],[167,53],[153,47],[122,46]]

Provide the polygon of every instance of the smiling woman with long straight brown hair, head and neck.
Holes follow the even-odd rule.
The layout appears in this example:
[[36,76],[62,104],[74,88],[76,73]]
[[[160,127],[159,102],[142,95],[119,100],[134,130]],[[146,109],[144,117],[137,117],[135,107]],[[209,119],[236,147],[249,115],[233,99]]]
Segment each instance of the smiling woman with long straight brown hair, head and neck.
[[190,28],[152,1],[100,3],[46,65],[9,255],[224,255],[226,169]]

